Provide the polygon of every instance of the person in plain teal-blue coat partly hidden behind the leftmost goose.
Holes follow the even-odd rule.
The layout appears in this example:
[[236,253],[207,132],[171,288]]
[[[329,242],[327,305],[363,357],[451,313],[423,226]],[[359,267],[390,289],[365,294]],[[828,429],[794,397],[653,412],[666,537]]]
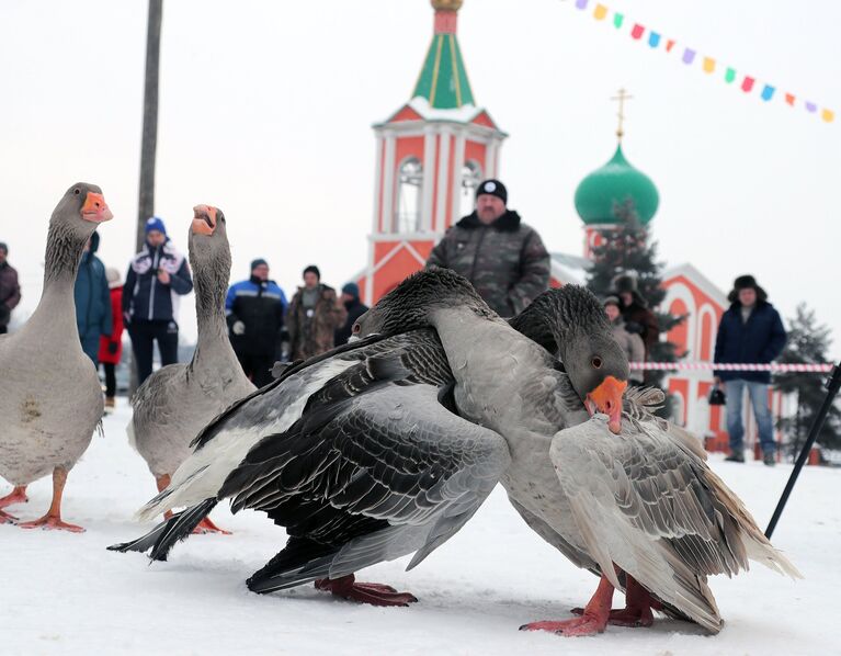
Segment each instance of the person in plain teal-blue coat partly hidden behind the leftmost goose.
[[94,253],[100,246],[99,233],[93,233],[79,263],[73,285],[76,327],[82,351],[99,367],[100,336],[111,335],[111,292],[105,276],[105,265]]

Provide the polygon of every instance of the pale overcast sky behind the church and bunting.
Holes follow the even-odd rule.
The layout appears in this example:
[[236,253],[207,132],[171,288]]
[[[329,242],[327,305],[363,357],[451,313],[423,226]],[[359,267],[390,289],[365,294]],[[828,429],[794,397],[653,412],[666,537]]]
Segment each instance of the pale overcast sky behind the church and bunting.
[[[651,226],[663,259],[692,262],[724,291],[753,273],[784,316],[805,301],[838,337],[841,4],[605,3],[840,117],[747,95],[573,0],[465,0],[458,36],[474,95],[510,134],[509,206],[550,250],[581,251],[572,196],[615,148],[609,99],[625,87],[624,149],[660,191]],[[124,270],[134,252],[146,10],[0,3],[0,240],[24,312],[39,296],[49,214],[73,182],[101,185],[114,212],[100,229],[105,263]],[[291,295],[306,264],[333,285],[362,269],[371,124],[409,100],[431,36],[428,0],[167,0],[156,212],[174,242],[186,248],[191,208],[208,203],[228,217],[235,279],[264,257]],[[192,312],[182,305],[187,337]]]

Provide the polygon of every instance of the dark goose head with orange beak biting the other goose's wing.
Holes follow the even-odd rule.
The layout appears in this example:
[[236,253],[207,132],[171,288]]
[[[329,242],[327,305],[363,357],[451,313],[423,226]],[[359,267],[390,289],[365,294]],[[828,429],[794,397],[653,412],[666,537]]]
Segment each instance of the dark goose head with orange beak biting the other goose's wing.
[[587,410],[606,415],[611,430],[620,432],[628,361],[592,292],[579,285],[548,290],[511,326],[554,353]]

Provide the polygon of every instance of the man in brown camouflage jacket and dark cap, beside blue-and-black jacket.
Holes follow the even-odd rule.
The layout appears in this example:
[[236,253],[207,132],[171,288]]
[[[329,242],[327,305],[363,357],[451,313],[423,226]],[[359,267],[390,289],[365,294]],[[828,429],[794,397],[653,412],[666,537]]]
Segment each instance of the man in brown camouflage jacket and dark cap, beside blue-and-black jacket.
[[332,349],[336,329],[344,324],[346,315],[336,290],[321,282],[318,267],[304,269],[304,286],[292,297],[286,316],[289,359],[307,360]]

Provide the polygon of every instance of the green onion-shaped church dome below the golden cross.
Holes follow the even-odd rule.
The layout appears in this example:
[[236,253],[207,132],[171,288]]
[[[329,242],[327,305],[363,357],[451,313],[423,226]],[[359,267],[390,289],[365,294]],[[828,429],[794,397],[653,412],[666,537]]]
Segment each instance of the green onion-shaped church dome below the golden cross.
[[586,224],[616,223],[614,206],[632,199],[640,223],[647,224],[657,212],[660,194],[651,179],[632,167],[622,144],[611,161],[581,181],[576,190],[576,211]]

